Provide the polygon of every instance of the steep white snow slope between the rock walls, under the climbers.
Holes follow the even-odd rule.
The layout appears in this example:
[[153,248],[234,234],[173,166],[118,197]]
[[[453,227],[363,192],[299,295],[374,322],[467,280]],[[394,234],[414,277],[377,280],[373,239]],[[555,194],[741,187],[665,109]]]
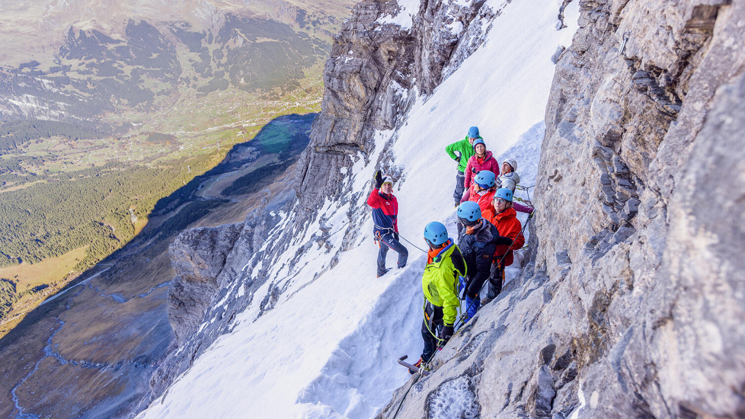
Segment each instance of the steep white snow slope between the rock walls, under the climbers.
[[[569,27],[561,31],[556,29],[561,1],[508,4],[484,45],[427,100],[416,101],[405,126],[395,133],[378,133],[376,151],[383,151],[392,136],[400,139],[393,144],[393,165],[403,174],[394,186],[402,237],[424,248],[422,231],[429,221],[443,221],[455,236],[451,195],[456,163],[444,149],[462,139],[471,125],[480,128],[500,163],[505,157],[518,161],[521,185],[534,185],[554,75],[550,57],[558,45],[571,42],[577,2],[567,7]],[[497,8],[501,0],[487,3]],[[349,192],[362,192],[359,199],[366,199],[374,170],[373,164],[364,166],[360,160],[351,170]],[[516,196],[525,198],[524,193]],[[340,207],[331,201],[324,208],[335,247],[344,239],[347,209],[349,204]],[[278,216],[285,217],[283,222],[291,218]],[[311,239],[312,230],[297,238],[287,259]],[[396,358],[408,354],[416,360],[422,350],[420,280],[426,256],[404,242],[409,265],[378,279],[372,230],[368,220],[330,270],[333,252],[326,253],[323,246],[305,249],[299,271],[276,267],[275,285],[288,284],[276,307],[260,317],[258,304],[247,309],[236,318],[233,333],[218,338],[139,418],[375,415],[409,378]],[[389,266],[395,257],[389,252]],[[508,277],[515,274],[514,268],[507,271]],[[242,290],[236,287],[226,298],[242,297]]]

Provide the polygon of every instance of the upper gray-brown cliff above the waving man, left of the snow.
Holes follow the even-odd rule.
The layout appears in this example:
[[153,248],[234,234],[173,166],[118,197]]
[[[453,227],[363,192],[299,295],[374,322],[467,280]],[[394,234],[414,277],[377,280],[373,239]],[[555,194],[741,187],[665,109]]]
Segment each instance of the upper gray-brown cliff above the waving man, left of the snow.
[[339,196],[340,168],[360,157],[373,159],[375,130],[396,127],[415,98],[408,91],[431,93],[481,45],[498,14],[484,0],[467,6],[425,1],[410,28],[379,21],[400,12],[396,1],[361,1],[334,38],[323,72],[322,110],[298,163],[303,209],[313,211],[323,198]]

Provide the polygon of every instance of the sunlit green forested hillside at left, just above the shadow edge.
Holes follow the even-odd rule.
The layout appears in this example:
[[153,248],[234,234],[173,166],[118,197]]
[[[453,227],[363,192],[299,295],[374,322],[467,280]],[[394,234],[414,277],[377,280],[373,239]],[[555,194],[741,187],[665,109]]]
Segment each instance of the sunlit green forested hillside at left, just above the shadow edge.
[[[111,164],[0,193],[0,267],[35,263],[89,245],[82,271],[133,239],[164,192],[173,192],[215,163],[193,157],[148,168]],[[192,173],[188,173],[191,167]]]

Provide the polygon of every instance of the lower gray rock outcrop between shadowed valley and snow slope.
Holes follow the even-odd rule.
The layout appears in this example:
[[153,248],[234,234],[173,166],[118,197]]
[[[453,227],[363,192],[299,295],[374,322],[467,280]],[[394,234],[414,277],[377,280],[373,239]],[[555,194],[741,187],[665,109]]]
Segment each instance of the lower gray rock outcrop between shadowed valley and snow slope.
[[[168,249],[176,271],[168,288],[168,320],[177,335],[177,348],[150,377],[150,394],[142,400],[142,408],[191,367],[212,341],[228,333],[234,316],[253,303],[254,293],[264,280],[247,276],[245,271],[265,252],[273,254],[270,247],[261,249],[276,226],[273,213],[286,211],[294,203],[294,191],[287,188],[293,179],[291,166],[268,188],[259,208],[249,212],[243,223],[186,230]],[[284,241],[276,243],[278,248],[285,245]],[[238,289],[244,290],[245,297],[218,304]],[[203,324],[205,327],[200,328]]]

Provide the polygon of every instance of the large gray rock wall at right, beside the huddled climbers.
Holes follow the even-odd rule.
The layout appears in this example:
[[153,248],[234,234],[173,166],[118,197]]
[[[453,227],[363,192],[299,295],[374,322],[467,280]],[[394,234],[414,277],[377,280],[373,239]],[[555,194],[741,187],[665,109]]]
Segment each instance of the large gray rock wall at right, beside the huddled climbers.
[[452,394],[453,417],[745,416],[745,4],[580,10],[546,109],[537,250],[381,418]]

